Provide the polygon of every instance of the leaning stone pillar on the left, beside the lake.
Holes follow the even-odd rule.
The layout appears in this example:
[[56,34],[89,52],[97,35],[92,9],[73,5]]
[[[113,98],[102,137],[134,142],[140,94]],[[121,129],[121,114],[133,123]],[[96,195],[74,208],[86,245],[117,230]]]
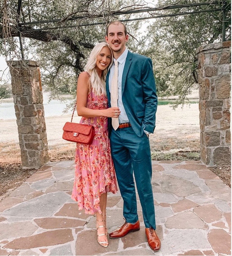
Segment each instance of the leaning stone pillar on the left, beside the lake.
[[9,61],[23,168],[49,162],[39,63]]

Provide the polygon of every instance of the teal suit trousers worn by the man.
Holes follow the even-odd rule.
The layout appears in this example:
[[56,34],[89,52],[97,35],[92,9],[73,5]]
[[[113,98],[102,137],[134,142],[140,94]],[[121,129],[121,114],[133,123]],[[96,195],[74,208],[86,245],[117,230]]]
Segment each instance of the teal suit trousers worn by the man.
[[137,136],[129,127],[116,131],[112,129],[110,140],[116,176],[124,201],[124,218],[129,223],[135,223],[138,220],[135,177],[145,227],[156,229],[149,138],[145,133],[142,137]]

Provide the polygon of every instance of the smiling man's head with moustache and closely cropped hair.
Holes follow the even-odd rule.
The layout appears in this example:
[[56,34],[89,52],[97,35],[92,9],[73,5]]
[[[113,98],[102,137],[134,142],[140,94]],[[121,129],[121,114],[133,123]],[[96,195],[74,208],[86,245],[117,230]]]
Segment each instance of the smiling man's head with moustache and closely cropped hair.
[[112,23],[109,25],[106,41],[111,46],[115,58],[118,58],[125,51],[125,43],[128,38],[128,35],[125,35],[123,24]]

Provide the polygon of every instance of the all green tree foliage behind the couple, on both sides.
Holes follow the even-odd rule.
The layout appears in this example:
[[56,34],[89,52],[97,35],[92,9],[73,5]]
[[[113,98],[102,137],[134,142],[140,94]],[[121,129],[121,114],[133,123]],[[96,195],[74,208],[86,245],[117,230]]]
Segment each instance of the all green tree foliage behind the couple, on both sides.
[[[3,2],[0,54],[5,54],[8,58],[9,56],[20,58],[17,51],[19,28],[16,24],[18,0]],[[157,6],[166,7],[196,2],[202,2],[202,0],[178,2],[165,0],[159,1]],[[222,8],[223,3],[229,4],[225,27],[226,40],[230,40],[229,1],[117,16],[114,10],[136,11],[149,4],[144,0],[23,0],[20,22],[61,19],[59,22],[40,22],[22,26],[25,58],[39,60],[42,86],[51,91],[52,98],[58,97],[60,93],[75,95],[76,81],[79,73],[84,69],[86,57],[97,42],[104,40],[106,25],[110,21],[217,9]],[[77,16],[79,18],[76,18]],[[127,47],[133,52],[152,58],[158,95],[180,95],[178,104],[183,103],[187,94],[197,83],[196,48],[202,44],[222,40],[222,11],[156,18],[152,21],[154,22],[150,22],[148,28],[143,31],[141,26],[145,21],[125,22],[130,34]],[[96,25],[82,26],[92,23]],[[41,30],[32,31],[32,29]]]

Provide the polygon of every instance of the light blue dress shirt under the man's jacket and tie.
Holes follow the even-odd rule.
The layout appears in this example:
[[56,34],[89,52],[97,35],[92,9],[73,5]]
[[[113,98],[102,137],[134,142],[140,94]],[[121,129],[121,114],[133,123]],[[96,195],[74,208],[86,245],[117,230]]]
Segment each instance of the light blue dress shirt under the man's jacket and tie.
[[[129,119],[127,117],[127,114],[125,112],[125,108],[124,108],[123,103],[122,103],[122,73],[123,73],[123,69],[124,69],[124,66],[125,66],[127,53],[128,53],[128,50],[125,49],[125,51],[122,53],[122,55],[120,55],[120,57],[117,59],[117,61],[118,61],[118,107],[121,111],[121,114],[118,118],[119,123],[129,123]],[[114,58],[114,62],[115,62],[115,60],[116,59]],[[114,64],[110,68],[110,75],[109,75],[109,90],[110,90],[110,93],[111,93],[111,81],[112,81],[112,78],[113,78],[113,74],[114,74]]]

